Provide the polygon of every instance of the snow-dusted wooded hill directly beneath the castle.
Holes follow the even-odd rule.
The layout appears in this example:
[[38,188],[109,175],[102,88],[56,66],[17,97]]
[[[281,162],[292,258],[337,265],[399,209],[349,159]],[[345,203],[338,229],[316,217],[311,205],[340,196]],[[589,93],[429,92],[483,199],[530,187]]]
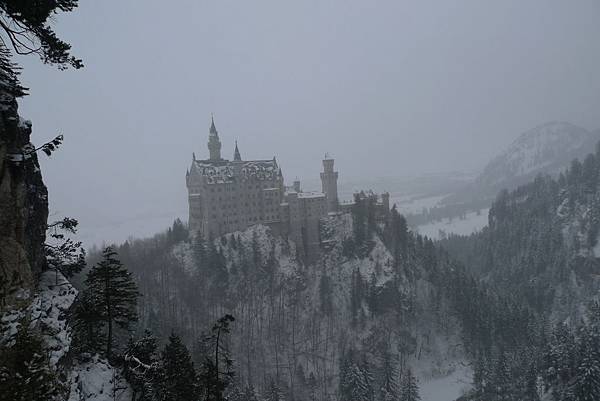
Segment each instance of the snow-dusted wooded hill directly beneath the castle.
[[235,316],[231,350],[242,388],[251,383],[262,393],[276,380],[289,399],[310,391],[334,399],[348,358],[364,360],[361,369],[376,381],[386,358],[395,374],[412,367],[423,386],[468,375],[466,350],[451,346],[461,343],[461,325],[450,317],[447,290],[437,278],[447,262],[429,263],[438,257],[431,242],[405,231],[394,216],[371,228],[362,244],[352,215],[328,218],[328,250],[314,265],[301,264],[294,244],[264,226],[214,244],[136,241],[119,253],[144,294],[140,326],[159,337],[176,330],[193,349],[211,322],[224,313]]

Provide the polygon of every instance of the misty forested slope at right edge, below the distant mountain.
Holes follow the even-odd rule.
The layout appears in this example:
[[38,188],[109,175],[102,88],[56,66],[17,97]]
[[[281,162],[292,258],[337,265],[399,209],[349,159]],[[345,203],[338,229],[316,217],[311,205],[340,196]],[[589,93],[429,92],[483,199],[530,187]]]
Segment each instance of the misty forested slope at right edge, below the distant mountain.
[[600,153],[557,178],[501,192],[489,225],[442,244],[499,291],[557,319],[581,316],[600,284]]

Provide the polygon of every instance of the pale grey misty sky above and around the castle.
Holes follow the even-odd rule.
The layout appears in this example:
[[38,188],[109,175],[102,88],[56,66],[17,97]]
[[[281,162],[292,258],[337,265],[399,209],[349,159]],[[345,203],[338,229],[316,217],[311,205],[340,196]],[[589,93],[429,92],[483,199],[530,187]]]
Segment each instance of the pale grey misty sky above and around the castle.
[[81,0],[57,31],[86,67],[18,58],[20,110],[65,135],[50,209],[88,239],[186,217],[211,112],[224,157],[237,139],[288,181],[325,152],[340,179],[473,171],[540,123],[600,128],[597,0]]

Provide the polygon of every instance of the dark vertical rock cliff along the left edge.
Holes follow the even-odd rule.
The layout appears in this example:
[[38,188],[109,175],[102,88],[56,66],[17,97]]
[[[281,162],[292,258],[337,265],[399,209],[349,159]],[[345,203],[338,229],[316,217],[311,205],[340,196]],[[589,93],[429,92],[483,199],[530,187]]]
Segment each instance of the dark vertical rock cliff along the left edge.
[[[0,78],[2,78],[0,76]],[[44,263],[48,191],[30,143],[31,123],[0,85],[0,310],[34,287]]]

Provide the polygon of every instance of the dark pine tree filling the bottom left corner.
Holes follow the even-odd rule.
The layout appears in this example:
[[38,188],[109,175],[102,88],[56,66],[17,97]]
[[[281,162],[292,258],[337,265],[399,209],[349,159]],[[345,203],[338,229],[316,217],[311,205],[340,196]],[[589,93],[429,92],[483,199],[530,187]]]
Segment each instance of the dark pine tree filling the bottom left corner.
[[25,319],[14,344],[0,348],[0,401],[50,401],[60,391],[42,338]]

